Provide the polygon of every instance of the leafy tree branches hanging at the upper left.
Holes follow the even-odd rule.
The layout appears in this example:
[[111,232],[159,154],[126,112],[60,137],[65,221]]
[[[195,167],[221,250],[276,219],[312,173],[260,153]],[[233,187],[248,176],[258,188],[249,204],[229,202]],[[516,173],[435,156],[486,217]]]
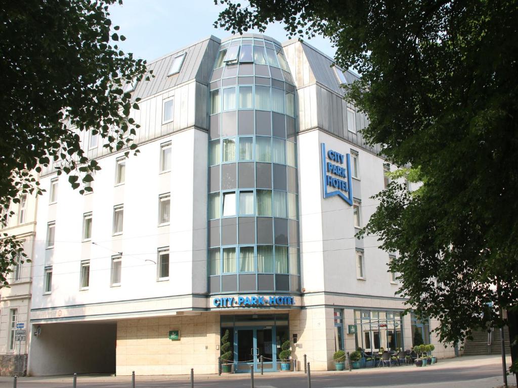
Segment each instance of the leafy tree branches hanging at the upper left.
[[[113,3],[26,0],[0,5],[2,227],[21,193],[41,193],[31,171],[52,163],[58,174],[69,174],[74,189],[80,181],[93,180],[91,173],[100,168],[83,151],[81,131],[98,133],[111,151],[126,150],[126,156],[138,151],[132,141],[137,126],[127,118],[132,107],[138,109],[137,100],[124,86],[143,78],[146,61],[113,44],[125,39],[114,32],[118,26],[111,28],[108,7]],[[79,192],[84,191],[92,188]],[[7,285],[6,275],[22,251],[16,236],[2,235],[0,285]]]

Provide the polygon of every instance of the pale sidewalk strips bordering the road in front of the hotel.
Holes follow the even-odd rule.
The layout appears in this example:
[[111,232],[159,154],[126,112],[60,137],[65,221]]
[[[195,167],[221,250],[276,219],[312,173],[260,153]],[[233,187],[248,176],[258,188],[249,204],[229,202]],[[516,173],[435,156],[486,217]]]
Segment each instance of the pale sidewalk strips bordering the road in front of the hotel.
[[[506,359],[507,365],[511,363],[511,357],[507,357]],[[448,369],[453,368],[472,368],[472,367],[481,367],[484,365],[495,365],[501,364],[501,356],[493,355],[493,356],[466,356],[466,357],[457,357],[454,359],[442,359],[439,360],[437,364],[416,368],[413,365],[408,366],[393,366],[393,367],[382,367],[382,368],[362,368],[362,369],[353,369],[352,371],[336,371],[336,370],[322,370],[322,371],[311,371],[311,377],[319,377],[319,376],[334,376],[334,375],[371,375],[378,373],[394,373],[398,374],[401,372],[406,372],[408,370],[416,371],[416,372],[424,372],[426,370],[435,370],[439,372],[440,370],[447,371]],[[217,374],[211,375],[196,375],[196,370],[194,370],[195,379],[197,381],[204,380],[239,380],[239,379],[249,379],[248,374],[222,374],[218,376]],[[271,378],[275,376],[275,378],[289,378],[294,376],[304,376],[304,371],[296,371],[296,372],[278,372],[275,375],[270,373],[265,373],[264,376],[261,376],[260,373],[255,372],[254,378],[260,380],[262,378]],[[140,382],[143,381],[188,381],[190,379],[190,375],[174,375],[174,376],[141,376],[136,373],[136,379]],[[54,383],[70,383],[72,380],[72,376],[45,376],[45,377],[21,377],[19,378],[19,382],[54,382]],[[509,383],[513,384],[515,381],[514,376],[508,377]],[[101,383],[101,382],[124,382],[131,381],[131,376],[113,376],[113,375],[79,375],[77,377],[77,381],[79,382],[91,382],[91,383]],[[469,381],[469,383],[467,382]],[[454,386],[469,386],[471,388],[491,388],[502,385],[502,377],[493,377],[488,379],[478,379],[478,380],[467,380],[465,384],[461,384],[462,382],[456,381],[454,382]],[[12,377],[0,377],[0,383],[12,382]],[[401,384],[395,385],[400,386]],[[415,386],[415,384],[412,384]],[[419,384],[419,386],[426,388],[452,388],[452,382],[441,382],[441,383],[423,383]],[[387,385],[388,387],[388,385]]]

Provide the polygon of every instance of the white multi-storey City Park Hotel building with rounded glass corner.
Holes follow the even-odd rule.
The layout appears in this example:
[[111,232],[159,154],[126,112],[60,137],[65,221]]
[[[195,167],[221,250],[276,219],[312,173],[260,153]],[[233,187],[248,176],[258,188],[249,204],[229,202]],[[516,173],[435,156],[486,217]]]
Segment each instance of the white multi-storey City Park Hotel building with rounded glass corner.
[[391,256],[354,237],[390,166],[332,64],[262,35],[194,43],[128,88],[137,157],[83,132],[94,192],[42,173],[30,374],[215,373],[227,330],[236,371],[278,370],[286,339],[316,370],[429,342],[435,322],[401,317]]

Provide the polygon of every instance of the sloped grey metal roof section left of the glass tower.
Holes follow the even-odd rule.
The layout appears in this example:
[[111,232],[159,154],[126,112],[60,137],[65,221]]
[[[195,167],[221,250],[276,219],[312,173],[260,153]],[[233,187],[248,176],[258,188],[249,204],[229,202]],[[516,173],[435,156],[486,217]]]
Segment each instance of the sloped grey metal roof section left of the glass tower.
[[[142,80],[137,83],[133,99],[137,97],[143,99],[191,80],[208,84],[220,43],[219,38],[211,35],[208,38],[154,59],[154,61],[147,65],[148,72],[146,73],[147,76],[149,71],[153,70],[154,77],[150,77],[149,81]],[[180,72],[168,76],[167,74],[175,57],[182,53],[186,55]]]

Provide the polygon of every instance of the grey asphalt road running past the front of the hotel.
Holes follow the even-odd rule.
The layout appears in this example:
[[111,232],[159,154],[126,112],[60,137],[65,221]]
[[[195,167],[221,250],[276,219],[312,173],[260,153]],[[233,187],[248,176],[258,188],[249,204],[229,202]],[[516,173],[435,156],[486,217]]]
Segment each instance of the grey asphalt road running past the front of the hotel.
[[[500,376],[502,372],[501,366],[498,364],[485,365],[478,367],[461,367],[434,370],[434,368],[415,368],[412,366],[400,367],[398,372],[384,372],[380,370],[372,372],[362,372],[361,374],[343,374],[318,375],[312,376],[312,388],[339,388],[339,387],[362,387],[362,386],[386,386],[398,384],[416,384],[421,383],[440,383],[452,382],[455,386],[456,381],[476,380],[488,377]],[[278,374],[269,374],[263,377],[255,376],[255,388],[292,388],[307,387],[307,378],[305,376],[287,376],[289,372],[279,376]],[[127,381],[111,381],[111,382],[90,382],[78,379],[77,388],[130,388],[131,378]],[[71,381],[68,383],[58,382],[42,382],[42,381],[19,381],[18,388],[69,388]],[[0,387],[11,387],[12,383],[1,383]],[[173,388],[173,387],[190,387],[188,381],[171,381],[171,380],[152,380],[138,381],[136,379],[136,388]],[[195,387],[207,388],[249,388],[250,375],[243,375],[243,378],[234,378],[227,380],[198,380],[195,379]]]

